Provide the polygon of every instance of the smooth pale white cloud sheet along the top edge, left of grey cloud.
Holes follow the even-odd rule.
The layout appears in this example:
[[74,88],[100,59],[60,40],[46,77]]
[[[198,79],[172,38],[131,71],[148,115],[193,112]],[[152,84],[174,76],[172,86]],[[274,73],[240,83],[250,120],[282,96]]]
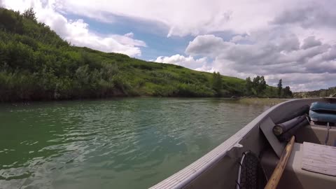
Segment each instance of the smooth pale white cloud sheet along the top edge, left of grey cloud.
[[[232,30],[237,33],[265,27],[272,14],[286,7],[283,1],[213,0],[82,0],[57,1],[57,7],[79,15],[109,22],[113,15],[151,20],[167,25],[167,36],[207,34]],[[104,19],[105,17],[105,19]]]

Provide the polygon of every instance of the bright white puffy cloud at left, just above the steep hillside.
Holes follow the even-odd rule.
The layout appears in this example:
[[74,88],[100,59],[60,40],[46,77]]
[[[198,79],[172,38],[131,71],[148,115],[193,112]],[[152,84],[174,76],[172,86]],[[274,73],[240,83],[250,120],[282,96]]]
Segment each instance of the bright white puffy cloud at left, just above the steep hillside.
[[8,8],[20,10],[32,6],[39,22],[44,22],[59,36],[73,45],[85,46],[104,52],[119,52],[130,56],[141,56],[140,47],[146,47],[144,41],[134,39],[134,34],[97,34],[89,29],[84,20],[68,20],[56,10],[57,1],[4,1]]

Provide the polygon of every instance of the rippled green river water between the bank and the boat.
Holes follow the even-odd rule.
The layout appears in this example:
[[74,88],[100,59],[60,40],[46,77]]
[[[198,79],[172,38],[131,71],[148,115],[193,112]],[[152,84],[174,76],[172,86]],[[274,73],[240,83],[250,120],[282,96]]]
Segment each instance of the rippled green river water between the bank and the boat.
[[0,188],[148,188],[269,106],[126,98],[0,105]]

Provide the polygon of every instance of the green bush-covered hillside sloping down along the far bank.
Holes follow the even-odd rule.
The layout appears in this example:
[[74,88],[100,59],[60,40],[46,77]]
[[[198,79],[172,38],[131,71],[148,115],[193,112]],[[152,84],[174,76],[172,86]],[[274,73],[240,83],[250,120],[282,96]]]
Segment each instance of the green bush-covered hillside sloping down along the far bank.
[[0,8],[0,102],[109,97],[291,98],[263,76],[235,78],[71,45],[34,10]]

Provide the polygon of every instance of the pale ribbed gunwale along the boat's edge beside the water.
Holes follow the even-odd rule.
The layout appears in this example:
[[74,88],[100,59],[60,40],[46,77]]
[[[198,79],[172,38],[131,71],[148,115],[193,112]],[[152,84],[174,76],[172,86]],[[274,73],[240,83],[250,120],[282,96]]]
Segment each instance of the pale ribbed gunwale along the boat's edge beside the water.
[[258,117],[253,119],[250,123],[242,127],[241,130],[233,134],[229,139],[223,141],[222,144],[218,145],[209,153],[203,155],[201,158],[181,169],[179,172],[169,176],[167,179],[157,183],[155,186],[152,186],[150,189],[176,189],[187,186],[189,183],[195,180],[197,176],[200,176],[202,173],[206,172],[207,169],[216,165],[216,163],[225,157],[225,155],[227,155],[227,153],[232,148],[240,147],[241,145],[239,142],[243,139],[243,137],[246,136],[246,134],[248,134],[248,132],[250,132],[255,126],[260,124],[262,120],[265,120],[265,118],[267,118],[270,113],[289,103],[298,101],[311,102],[311,100],[321,100],[321,98],[292,99],[272,106],[271,108],[261,113]]

